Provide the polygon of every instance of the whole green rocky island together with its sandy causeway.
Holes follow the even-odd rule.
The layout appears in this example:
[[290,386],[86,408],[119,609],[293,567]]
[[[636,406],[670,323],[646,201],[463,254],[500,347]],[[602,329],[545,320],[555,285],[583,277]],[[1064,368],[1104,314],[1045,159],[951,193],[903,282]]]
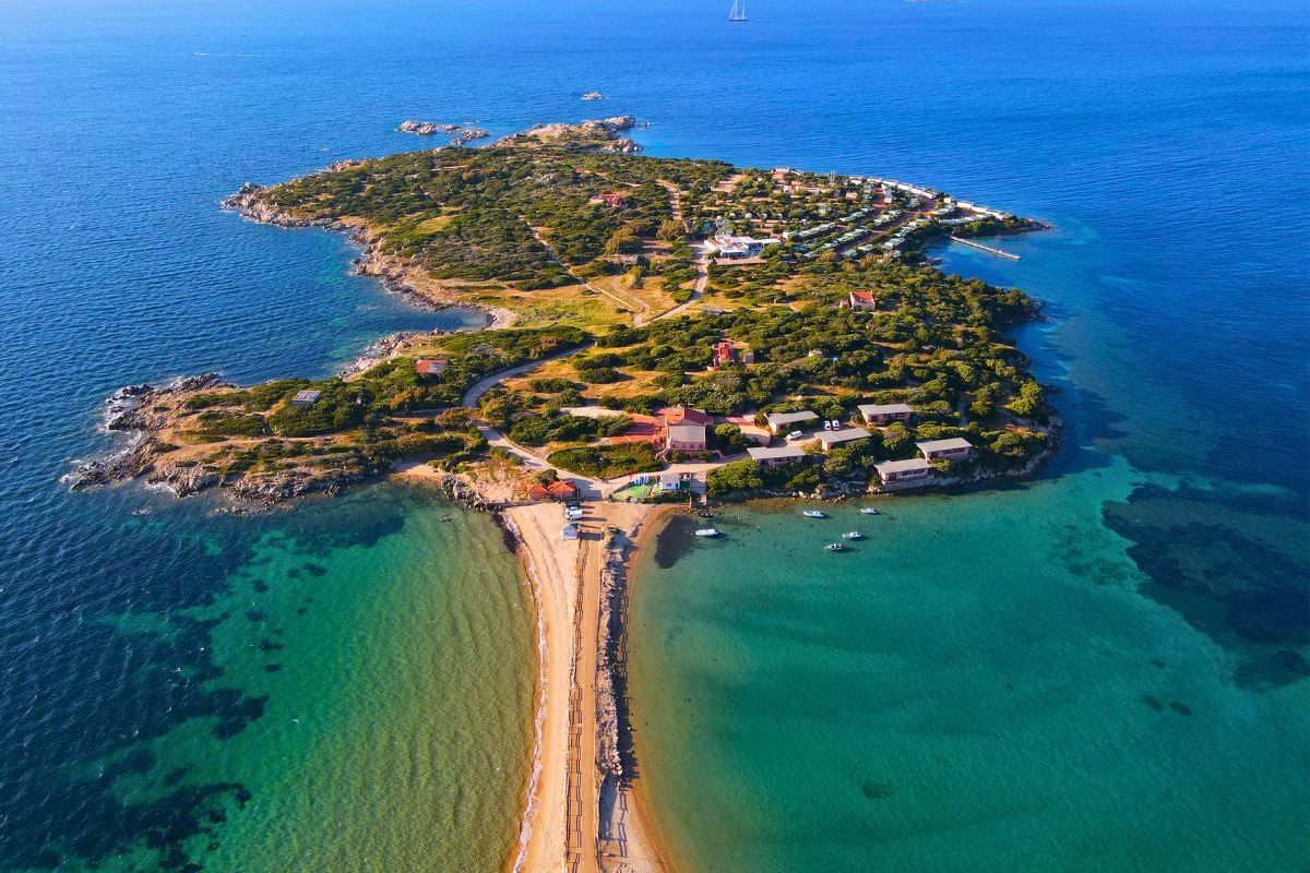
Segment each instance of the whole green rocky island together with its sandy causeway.
[[393,474],[496,510],[545,644],[516,869],[660,857],[639,792],[614,797],[627,558],[673,507],[1026,476],[1058,442],[1007,336],[1040,304],[930,255],[1044,225],[895,179],[647,157],[634,124],[244,186],[245,217],[348,233],[360,274],[487,327],[393,336],[330,378],[123,389],[127,445],[68,476],[271,504]]

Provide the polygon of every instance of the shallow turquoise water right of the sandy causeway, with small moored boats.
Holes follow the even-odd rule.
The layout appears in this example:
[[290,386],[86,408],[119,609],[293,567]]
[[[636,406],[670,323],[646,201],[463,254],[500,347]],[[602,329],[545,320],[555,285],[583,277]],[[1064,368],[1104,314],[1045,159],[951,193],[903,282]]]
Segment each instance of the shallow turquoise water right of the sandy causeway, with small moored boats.
[[1242,687],[1138,593],[1098,520],[1134,478],[731,509],[713,543],[676,522],[641,565],[630,675],[685,868],[1303,869],[1310,686]]

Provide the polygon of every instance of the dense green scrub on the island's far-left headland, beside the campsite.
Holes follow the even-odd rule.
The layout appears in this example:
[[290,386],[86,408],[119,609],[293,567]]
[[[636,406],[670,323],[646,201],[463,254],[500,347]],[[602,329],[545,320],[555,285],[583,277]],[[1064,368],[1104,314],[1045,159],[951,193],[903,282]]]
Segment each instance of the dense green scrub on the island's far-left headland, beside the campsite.
[[[718,182],[720,161],[659,160],[582,152],[576,144],[443,148],[359,161],[266,192],[276,207],[310,219],[367,221],[386,254],[438,279],[500,281],[532,291],[572,283],[580,267],[637,251],[671,232],[668,191]],[[625,205],[599,202],[605,192]],[[548,251],[533,237],[540,229]]]

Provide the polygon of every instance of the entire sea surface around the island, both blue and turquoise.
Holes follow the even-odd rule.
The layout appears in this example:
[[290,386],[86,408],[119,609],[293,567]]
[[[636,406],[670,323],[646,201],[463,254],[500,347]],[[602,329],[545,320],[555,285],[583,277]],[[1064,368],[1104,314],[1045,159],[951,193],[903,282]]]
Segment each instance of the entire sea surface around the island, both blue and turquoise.
[[686,869],[1306,869],[1310,12],[727,5],[5,4],[0,870],[506,866],[534,637],[489,520],[58,478],[113,446],[122,385],[479,323],[221,211],[242,182],[436,144],[405,118],[601,114],[1055,226],[1017,263],[938,253],[1048,304],[1019,339],[1068,427],[1038,480],[740,508],[647,556],[638,755]]

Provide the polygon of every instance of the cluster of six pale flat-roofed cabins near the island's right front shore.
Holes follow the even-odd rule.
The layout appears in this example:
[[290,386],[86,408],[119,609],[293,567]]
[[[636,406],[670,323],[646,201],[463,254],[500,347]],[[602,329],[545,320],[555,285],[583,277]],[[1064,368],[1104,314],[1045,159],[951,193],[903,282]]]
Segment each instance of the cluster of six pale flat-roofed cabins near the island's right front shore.
[[[905,403],[866,403],[858,407],[859,415],[869,425],[886,425],[895,421],[909,421],[914,410]],[[774,435],[794,432],[796,428],[808,427],[819,420],[815,412],[769,412],[765,416],[769,429]],[[844,427],[824,429],[814,435],[824,452],[831,452],[836,446],[855,440],[872,436],[862,427]],[[963,461],[973,454],[973,445],[963,437],[948,440],[926,440],[914,444],[920,457],[904,461],[883,461],[874,465],[878,476],[884,487],[904,488],[912,486],[929,484],[933,476],[933,461]],[[787,463],[796,463],[806,459],[806,450],[802,440],[794,440],[779,446],[761,446],[747,449],[751,459],[764,467],[778,467]]]

